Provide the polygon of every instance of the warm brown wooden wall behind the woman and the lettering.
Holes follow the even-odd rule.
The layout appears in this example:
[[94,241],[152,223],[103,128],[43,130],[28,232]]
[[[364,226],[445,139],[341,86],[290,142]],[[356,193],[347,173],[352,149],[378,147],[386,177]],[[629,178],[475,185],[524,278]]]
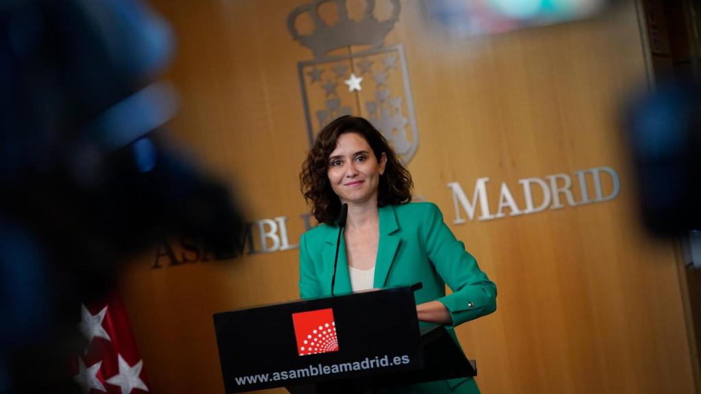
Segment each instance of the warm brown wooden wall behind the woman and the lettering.
[[[250,219],[287,216],[296,243],[308,150],[297,63],[313,56],[286,18],[301,1],[154,3],[179,41],[167,75],[182,93],[171,134],[236,188]],[[479,38],[449,36],[427,12],[402,2],[385,42],[406,50],[416,196],[440,206],[498,285],[496,313],[457,330],[482,391],[693,392],[674,247],[639,228],[618,128],[622,102],[646,81],[635,4]],[[494,212],[501,182],[523,208],[519,179],[603,165],[620,176],[612,201],[452,223],[449,182],[471,197],[489,177]],[[297,298],[297,250],[161,269],[154,256],[137,259],[122,286],[153,391],[221,392],[212,313]]]

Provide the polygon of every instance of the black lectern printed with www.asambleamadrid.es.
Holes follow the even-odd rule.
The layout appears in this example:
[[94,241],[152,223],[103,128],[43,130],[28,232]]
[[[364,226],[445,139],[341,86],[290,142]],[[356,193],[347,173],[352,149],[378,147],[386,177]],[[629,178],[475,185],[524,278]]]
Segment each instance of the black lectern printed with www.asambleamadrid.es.
[[214,315],[226,393],[344,393],[475,376],[442,326],[421,332],[412,287]]

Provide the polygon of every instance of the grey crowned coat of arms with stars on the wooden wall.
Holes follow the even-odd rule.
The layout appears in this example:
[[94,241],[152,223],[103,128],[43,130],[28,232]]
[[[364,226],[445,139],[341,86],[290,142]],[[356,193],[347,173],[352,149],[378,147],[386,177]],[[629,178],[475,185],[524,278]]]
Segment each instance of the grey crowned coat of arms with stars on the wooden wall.
[[[320,4],[332,2],[339,10],[338,21],[326,25],[317,15]],[[315,0],[296,8],[287,19],[292,37],[313,50],[314,60],[297,63],[310,147],[327,123],[343,115],[367,118],[393,145],[407,163],[418,148],[418,130],[411,99],[404,47],[383,46],[400,11],[393,0],[393,15],[379,21],[372,15],[374,1],[367,1],[365,15],[351,20],[346,0]],[[301,14],[308,13],[315,29],[301,36],[294,27]],[[370,46],[353,53],[353,46]],[[331,50],[338,55],[327,55]]]

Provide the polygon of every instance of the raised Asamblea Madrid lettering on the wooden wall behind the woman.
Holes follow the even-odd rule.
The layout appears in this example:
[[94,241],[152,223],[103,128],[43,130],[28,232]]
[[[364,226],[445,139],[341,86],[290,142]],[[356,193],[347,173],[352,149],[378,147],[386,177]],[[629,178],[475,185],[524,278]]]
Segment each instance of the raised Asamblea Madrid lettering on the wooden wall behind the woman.
[[[604,179],[608,177],[604,191]],[[465,191],[458,182],[449,182],[447,188],[451,191],[454,203],[453,224],[464,224],[468,220],[485,221],[531,215],[547,209],[557,210],[566,206],[603,203],[611,201],[620,193],[620,179],[610,167],[595,167],[575,171],[573,175],[554,174],[543,178],[531,177],[518,180],[518,186],[501,182],[496,205],[494,197],[487,191],[489,177],[478,178],[472,189]],[[573,190],[573,185],[577,186]],[[593,186],[593,187],[590,187]],[[471,193],[470,193],[471,191]],[[521,205],[516,203],[515,191],[522,197]],[[518,196],[518,195],[517,195]],[[535,197],[537,196],[537,198]],[[536,201],[538,200],[538,201]],[[493,208],[496,206],[496,210]],[[479,215],[478,214],[479,210]],[[304,222],[304,231],[311,229],[309,214],[300,215]],[[299,234],[301,235],[301,234]],[[294,239],[298,239],[296,236]],[[250,254],[281,252],[299,247],[298,243],[290,243],[287,232],[287,216],[273,219],[260,219],[246,224],[245,237],[233,251],[222,254],[207,250],[198,240],[191,236],[182,236],[175,240],[164,240],[158,245],[156,259],[152,268],[158,269],[164,265],[178,265],[198,261],[226,260]]]

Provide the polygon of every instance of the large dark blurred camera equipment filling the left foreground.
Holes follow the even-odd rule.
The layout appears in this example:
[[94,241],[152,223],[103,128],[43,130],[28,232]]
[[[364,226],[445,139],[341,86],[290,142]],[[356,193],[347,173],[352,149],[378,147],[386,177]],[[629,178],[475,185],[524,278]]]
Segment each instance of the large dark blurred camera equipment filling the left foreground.
[[134,0],[0,2],[0,392],[76,388],[81,302],[135,252],[243,236],[226,189],[154,131],[177,107],[154,83],[173,47]]

